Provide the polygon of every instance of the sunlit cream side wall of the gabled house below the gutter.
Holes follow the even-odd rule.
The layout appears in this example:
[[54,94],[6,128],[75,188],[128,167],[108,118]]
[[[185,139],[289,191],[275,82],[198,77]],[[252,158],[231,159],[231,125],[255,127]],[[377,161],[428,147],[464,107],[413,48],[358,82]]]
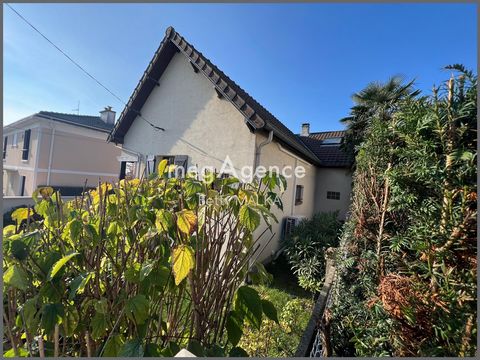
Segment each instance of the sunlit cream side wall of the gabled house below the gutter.
[[[267,140],[267,136],[263,134],[257,135],[257,144],[260,144]],[[265,145],[261,149],[259,165],[265,166],[267,169],[270,166],[278,166],[280,171],[287,166],[292,169],[295,167],[303,167],[305,169],[305,176],[302,178],[296,178],[291,176],[287,178],[287,189],[282,194],[281,199],[283,203],[283,211],[273,206],[273,213],[276,216],[278,223],[272,225],[272,231],[267,231],[262,241],[267,241],[271,236],[268,245],[260,254],[258,260],[266,261],[271,258],[278,250],[283,246],[282,244],[282,226],[283,219],[286,216],[305,216],[311,217],[314,213],[314,198],[315,198],[315,180],[316,171],[315,166],[303,160],[298,155],[287,150],[280,145],[276,140],[273,140],[270,144]],[[300,204],[295,203],[295,189],[296,186],[303,186],[303,201]],[[259,236],[267,227],[265,223],[256,230],[256,236]]]

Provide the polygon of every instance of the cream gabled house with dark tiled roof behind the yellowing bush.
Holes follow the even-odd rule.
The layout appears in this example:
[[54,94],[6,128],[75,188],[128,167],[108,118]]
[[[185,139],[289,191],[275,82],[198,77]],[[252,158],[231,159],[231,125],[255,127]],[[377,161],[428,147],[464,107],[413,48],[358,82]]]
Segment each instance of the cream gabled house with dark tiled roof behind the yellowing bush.
[[[306,176],[287,179],[284,211],[276,211],[277,218],[337,209],[344,217],[351,179],[346,163],[329,157],[338,144],[304,135],[293,134],[170,27],[109,141],[122,144],[122,177],[127,169],[134,176],[153,171],[162,158],[217,170],[227,156],[237,170],[302,165]],[[334,194],[327,198],[325,192]],[[283,225],[273,226],[275,237],[261,259],[279,249]]]

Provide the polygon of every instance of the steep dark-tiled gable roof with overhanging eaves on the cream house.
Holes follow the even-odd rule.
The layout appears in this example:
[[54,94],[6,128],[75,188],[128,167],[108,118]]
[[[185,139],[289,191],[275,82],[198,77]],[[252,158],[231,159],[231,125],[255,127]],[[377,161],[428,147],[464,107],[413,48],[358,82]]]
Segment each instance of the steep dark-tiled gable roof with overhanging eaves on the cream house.
[[[315,154],[303,142],[283,125],[274,115],[260,105],[245,90],[225,75],[203,54],[189,44],[173,27],[169,27],[160,46],[148,64],[137,87],[110,133],[109,141],[122,143],[133,121],[140,114],[153,88],[158,84],[163,72],[175,53],[182,53],[194,67],[215,87],[215,90],[230,101],[255,129],[273,131],[274,137],[289,146],[293,151],[314,164],[319,161]],[[161,85],[160,85],[161,86]]]

